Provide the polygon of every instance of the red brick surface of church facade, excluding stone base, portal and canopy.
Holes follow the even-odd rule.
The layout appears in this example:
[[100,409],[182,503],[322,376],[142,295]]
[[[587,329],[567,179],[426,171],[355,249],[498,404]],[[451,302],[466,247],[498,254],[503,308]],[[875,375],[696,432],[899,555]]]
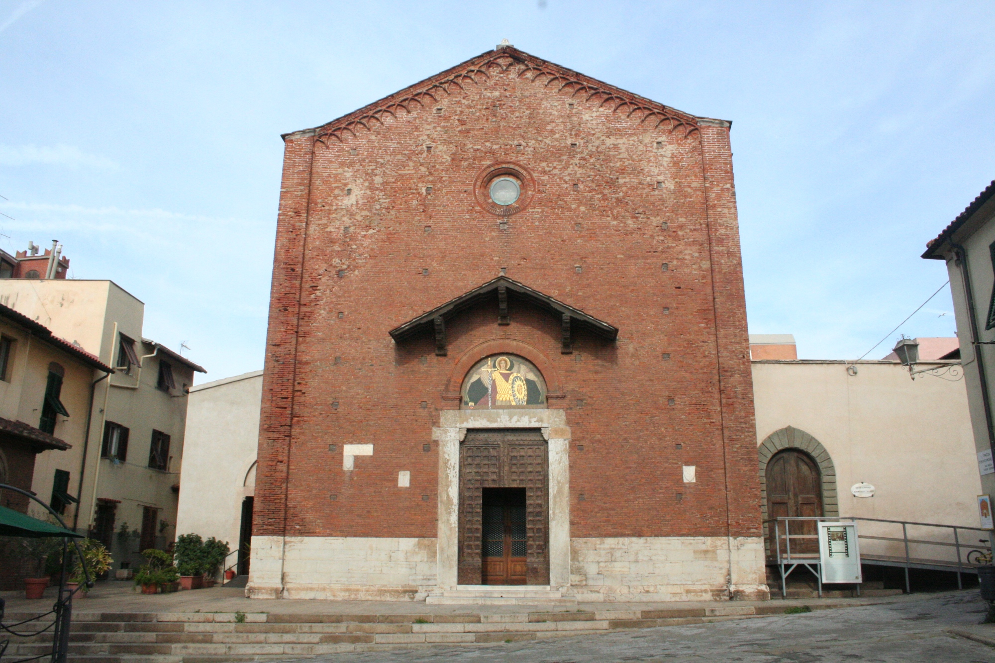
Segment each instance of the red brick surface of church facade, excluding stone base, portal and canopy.
[[[506,69],[482,64],[495,56]],[[758,536],[727,123],[517,51],[416,89],[468,70],[477,83],[458,76],[462,89],[436,88],[437,101],[407,101],[410,112],[393,107],[382,123],[367,117],[368,130],[329,134],[369,108],[317,129],[322,141],[312,130],[286,137],[254,534],[436,536],[431,429],[457,406],[442,393],[461,356],[509,338],[562,383],[549,404],[568,410],[573,432],[571,536]],[[605,93],[588,100],[595,85]],[[502,229],[473,188],[504,160],[527,167],[537,191]],[[446,356],[428,334],[399,344],[388,335],[501,268],[616,326],[618,340],[580,332],[561,354],[557,319],[512,306],[510,326],[498,327],[497,302],[447,323]],[[374,455],[343,472],[341,445],[355,443]],[[683,483],[682,465],[697,465],[696,484]],[[397,487],[400,470],[411,488]]]

